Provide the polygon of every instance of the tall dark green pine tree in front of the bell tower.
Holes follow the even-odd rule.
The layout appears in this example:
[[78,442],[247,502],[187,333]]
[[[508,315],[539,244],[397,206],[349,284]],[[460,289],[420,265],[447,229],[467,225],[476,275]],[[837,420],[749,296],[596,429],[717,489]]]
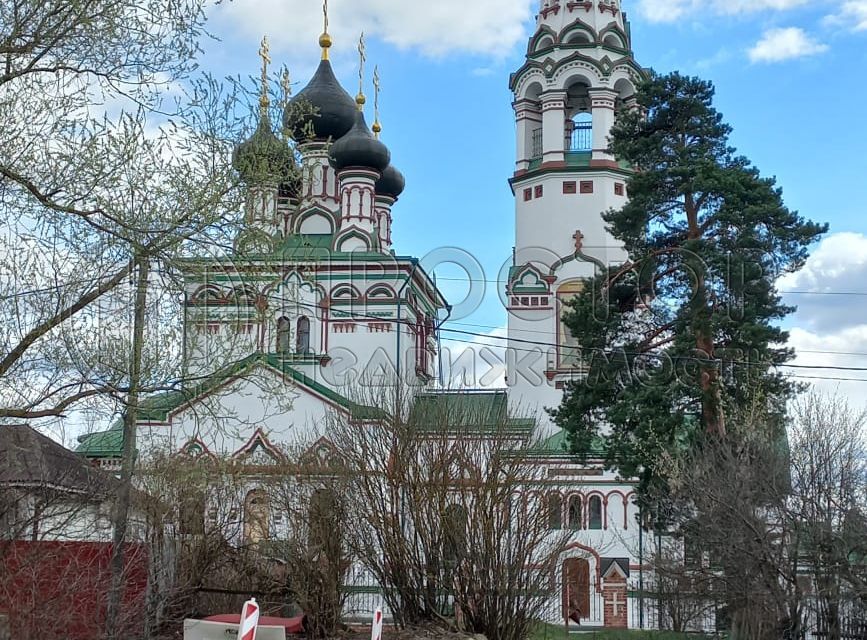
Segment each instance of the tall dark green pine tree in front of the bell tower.
[[736,154],[713,96],[698,78],[653,75],[619,114],[611,150],[634,173],[628,204],[604,218],[630,262],[564,315],[587,375],[552,415],[579,454],[604,429],[608,464],[645,487],[667,452],[725,438],[739,409],[781,412],[793,385],[777,365],[793,353],[779,325],[794,309],[776,281],[827,229]]

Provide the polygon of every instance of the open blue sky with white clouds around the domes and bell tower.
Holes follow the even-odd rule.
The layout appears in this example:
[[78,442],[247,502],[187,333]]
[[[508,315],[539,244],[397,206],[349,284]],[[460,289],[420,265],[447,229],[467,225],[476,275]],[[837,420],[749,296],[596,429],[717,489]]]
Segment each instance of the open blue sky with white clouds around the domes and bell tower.
[[[407,178],[395,208],[395,247],[424,256],[457,247],[494,281],[509,259],[514,201],[514,119],[509,73],[523,61],[538,0],[332,0],[333,59],[351,93],[356,41],[367,33],[368,76],[383,83],[383,140]],[[801,311],[788,323],[799,362],[867,366],[867,0],[624,0],[636,59],[660,72],[712,80],[732,142],[774,175],[786,203],[831,225],[804,273],[784,286]],[[203,67],[254,75],[267,34],[275,64],[306,83],[318,63],[318,0],[234,0],[212,12]],[[366,85],[372,93],[369,77]],[[372,107],[372,100],[368,102]],[[369,115],[372,119],[372,113]],[[453,301],[467,283],[437,269]],[[505,323],[497,285],[457,328],[498,333]],[[470,326],[472,325],[472,326]],[[484,342],[484,340],[482,340]],[[813,353],[833,351],[835,353]],[[845,354],[844,354],[845,352]],[[809,372],[806,372],[809,373]],[[816,375],[867,378],[867,372]],[[867,383],[825,381],[858,402]]]

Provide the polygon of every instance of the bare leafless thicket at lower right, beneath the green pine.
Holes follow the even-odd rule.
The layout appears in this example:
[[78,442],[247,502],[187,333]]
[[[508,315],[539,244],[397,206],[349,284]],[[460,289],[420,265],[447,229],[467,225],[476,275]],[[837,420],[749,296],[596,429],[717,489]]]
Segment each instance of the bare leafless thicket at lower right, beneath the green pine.
[[863,607],[864,415],[811,392],[788,418],[742,411],[734,424],[674,452],[670,485],[649,497],[655,528],[674,536],[654,559],[664,618],[684,630],[689,610],[718,609],[734,638],[818,624],[838,639]]

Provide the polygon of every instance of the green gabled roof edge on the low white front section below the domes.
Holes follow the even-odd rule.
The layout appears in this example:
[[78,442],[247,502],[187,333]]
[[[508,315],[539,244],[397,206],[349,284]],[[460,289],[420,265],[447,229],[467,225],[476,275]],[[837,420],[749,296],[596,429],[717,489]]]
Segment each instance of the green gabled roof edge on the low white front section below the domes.
[[[272,369],[287,376],[296,383],[324,396],[331,402],[346,409],[355,420],[381,420],[388,414],[377,407],[368,407],[352,402],[347,397],[329,389],[313,378],[289,366],[289,363],[276,354],[254,353],[243,360],[225,367],[209,376],[206,380],[179,391],[168,391],[150,396],[139,407],[138,422],[165,422],[169,414],[186,404],[216,390],[226,380],[248,373],[257,366]],[[76,452],[91,458],[120,457],[123,449],[123,423],[115,422],[107,431],[101,431],[79,438]]]

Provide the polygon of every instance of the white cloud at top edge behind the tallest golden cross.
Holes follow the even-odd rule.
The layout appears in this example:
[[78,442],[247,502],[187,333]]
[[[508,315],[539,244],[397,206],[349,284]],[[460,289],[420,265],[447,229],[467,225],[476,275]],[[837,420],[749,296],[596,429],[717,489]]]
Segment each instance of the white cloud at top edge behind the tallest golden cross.
[[[526,37],[533,6],[534,0],[332,0],[329,31],[335,47],[353,51],[363,30],[429,56],[499,57]],[[311,0],[235,0],[216,7],[212,17],[243,36],[267,34],[278,50],[315,45],[322,31],[320,3]]]

